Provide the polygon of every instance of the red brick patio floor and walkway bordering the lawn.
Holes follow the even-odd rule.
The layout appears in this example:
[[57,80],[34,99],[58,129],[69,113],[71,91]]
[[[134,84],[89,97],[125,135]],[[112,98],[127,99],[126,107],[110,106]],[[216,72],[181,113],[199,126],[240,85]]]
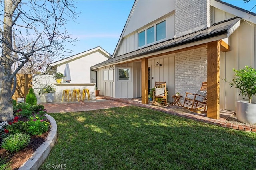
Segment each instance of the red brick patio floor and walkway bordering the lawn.
[[212,125],[218,125],[221,127],[227,127],[231,129],[237,129],[242,131],[253,131],[256,132],[256,126],[249,125],[237,125],[226,122],[226,119],[234,114],[233,111],[220,110],[220,118],[211,119],[206,114],[194,113],[188,109],[179,106],[172,106],[168,103],[167,106],[153,105],[152,102],[149,104],[142,104],[140,98],[111,98],[108,96],[99,96],[97,100],[85,100],[83,102],[54,102],[54,103],[41,103],[44,105],[48,113],[66,113],[76,111],[88,111],[97,109],[108,109],[111,107],[124,107],[124,106],[139,106],[157,111],[162,111],[171,115],[177,115],[180,117],[186,117],[195,121],[201,121],[204,123],[210,123]]

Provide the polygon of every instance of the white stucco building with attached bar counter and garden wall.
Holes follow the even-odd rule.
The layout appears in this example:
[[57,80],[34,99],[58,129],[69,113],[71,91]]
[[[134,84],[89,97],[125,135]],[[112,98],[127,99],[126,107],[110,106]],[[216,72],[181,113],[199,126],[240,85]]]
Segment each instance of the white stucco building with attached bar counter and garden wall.
[[[96,71],[91,70],[91,66],[102,63],[111,59],[111,55],[102,49],[100,46],[67,57],[65,59],[53,62],[46,68],[45,75],[33,74],[33,88],[37,97],[38,103],[45,102],[45,96],[39,96],[38,92],[41,88],[49,84],[54,84],[56,88],[55,101],[62,100],[63,90],[70,89],[71,93],[74,89],[89,89],[90,98],[95,99],[95,86],[97,86]],[[70,83],[57,84],[54,79],[54,73],[64,73],[66,64],[70,68]]]

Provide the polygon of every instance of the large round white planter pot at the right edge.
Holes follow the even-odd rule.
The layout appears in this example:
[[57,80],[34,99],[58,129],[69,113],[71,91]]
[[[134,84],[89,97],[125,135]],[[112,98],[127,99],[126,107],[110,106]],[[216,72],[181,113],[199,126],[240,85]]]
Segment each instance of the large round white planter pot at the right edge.
[[256,102],[236,101],[236,117],[243,123],[256,123]]

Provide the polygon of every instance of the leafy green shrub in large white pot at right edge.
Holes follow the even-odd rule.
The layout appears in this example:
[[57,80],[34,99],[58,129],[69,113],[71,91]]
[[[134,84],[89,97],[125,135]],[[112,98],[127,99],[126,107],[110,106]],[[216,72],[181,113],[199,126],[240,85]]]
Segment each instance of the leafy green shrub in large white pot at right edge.
[[230,83],[240,90],[239,95],[248,97],[248,101],[236,101],[236,117],[243,123],[256,123],[256,102],[252,97],[256,95],[256,70],[245,66],[244,69],[235,70],[235,78]]

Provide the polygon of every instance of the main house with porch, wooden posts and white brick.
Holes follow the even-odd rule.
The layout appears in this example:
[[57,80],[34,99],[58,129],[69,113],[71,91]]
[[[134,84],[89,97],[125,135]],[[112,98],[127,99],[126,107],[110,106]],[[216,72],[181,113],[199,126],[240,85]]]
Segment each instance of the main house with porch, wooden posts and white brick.
[[242,99],[224,79],[245,65],[256,66],[255,13],[216,0],[136,0],[112,58],[91,68],[100,94],[144,104],[155,81],[166,82],[168,101],[207,81],[207,117],[218,119]]

